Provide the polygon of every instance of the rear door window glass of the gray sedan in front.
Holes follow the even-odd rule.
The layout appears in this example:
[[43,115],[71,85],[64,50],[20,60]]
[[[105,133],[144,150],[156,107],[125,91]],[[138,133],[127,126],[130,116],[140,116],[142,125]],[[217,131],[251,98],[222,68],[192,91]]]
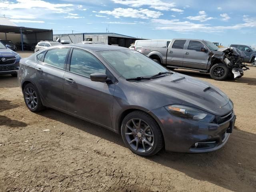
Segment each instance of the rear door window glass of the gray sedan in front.
[[50,64],[57,68],[64,68],[66,56],[69,48],[59,48],[48,50],[44,57],[44,63]]

